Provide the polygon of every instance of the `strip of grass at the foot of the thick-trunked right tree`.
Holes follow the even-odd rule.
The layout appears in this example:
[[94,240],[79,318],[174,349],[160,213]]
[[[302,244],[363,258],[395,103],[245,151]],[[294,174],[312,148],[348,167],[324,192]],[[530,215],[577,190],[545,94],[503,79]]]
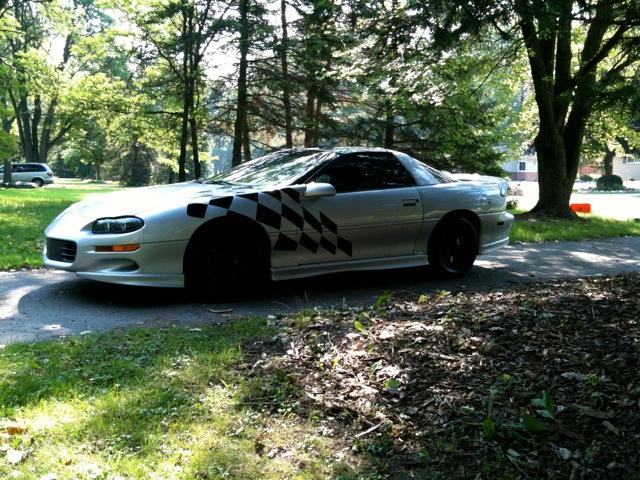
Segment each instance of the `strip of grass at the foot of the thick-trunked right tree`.
[[[522,212],[512,212],[522,213]],[[511,227],[511,243],[577,241],[590,238],[639,236],[640,222],[616,220],[592,215],[582,215],[582,221],[573,220],[521,220]]]

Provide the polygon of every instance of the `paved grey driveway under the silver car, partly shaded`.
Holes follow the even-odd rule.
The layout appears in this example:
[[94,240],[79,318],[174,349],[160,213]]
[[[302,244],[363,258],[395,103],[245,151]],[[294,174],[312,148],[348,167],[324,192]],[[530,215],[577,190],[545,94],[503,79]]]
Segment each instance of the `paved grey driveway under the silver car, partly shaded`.
[[0,272],[0,345],[135,325],[196,326],[319,305],[370,305],[385,290],[484,290],[627,271],[640,271],[640,237],[513,245],[480,257],[459,280],[436,279],[424,268],[282,282],[262,298],[229,305],[191,303],[182,290],[101,284],[66,272]]

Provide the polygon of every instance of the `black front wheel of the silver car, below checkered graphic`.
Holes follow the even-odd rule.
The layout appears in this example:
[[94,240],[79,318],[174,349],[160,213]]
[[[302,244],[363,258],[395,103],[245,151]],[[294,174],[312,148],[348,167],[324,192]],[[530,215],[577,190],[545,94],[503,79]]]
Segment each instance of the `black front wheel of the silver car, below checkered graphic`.
[[203,232],[189,243],[184,273],[196,300],[248,298],[267,283],[267,251],[250,232]]

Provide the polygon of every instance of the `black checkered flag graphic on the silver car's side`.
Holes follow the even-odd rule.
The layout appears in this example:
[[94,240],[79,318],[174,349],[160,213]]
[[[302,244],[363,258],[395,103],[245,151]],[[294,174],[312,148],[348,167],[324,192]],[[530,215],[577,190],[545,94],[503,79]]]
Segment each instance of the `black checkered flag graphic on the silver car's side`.
[[[274,250],[296,250],[298,245],[317,253],[323,248],[332,255],[338,251],[352,256],[351,241],[338,234],[338,225],[320,212],[317,218],[300,202],[300,193],[293,188],[270,192],[251,192],[212,198],[209,203],[191,203],[187,215],[204,218],[211,207],[222,209],[225,215],[251,218],[266,229],[278,232]],[[310,228],[305,228],[308,225]],[[298,241],[283,231],[299,231]],[[306,231],[305,231],[306,230]]]

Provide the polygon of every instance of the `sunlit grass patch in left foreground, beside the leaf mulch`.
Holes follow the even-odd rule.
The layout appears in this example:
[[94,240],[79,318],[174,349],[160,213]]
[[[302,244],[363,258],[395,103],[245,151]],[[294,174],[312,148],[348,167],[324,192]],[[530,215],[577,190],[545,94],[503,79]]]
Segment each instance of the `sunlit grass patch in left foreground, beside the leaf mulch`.
[[350,478],[320,415],[293,421],[286,375],[252,373],[275,331],[250,318],[0,349],[0,478]]

